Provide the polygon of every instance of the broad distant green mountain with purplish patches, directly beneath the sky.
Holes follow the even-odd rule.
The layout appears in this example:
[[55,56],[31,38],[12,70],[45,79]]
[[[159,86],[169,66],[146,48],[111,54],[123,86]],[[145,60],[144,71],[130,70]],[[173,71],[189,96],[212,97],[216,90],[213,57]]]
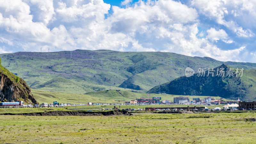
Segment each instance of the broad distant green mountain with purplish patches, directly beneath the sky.
[[[223,63],[208,57],[170,52],[110,50],[16,52],[0,54],[0,57],[4,67],[34,89],[78,94],[109,87],[147,92],[159,82],[163,84],[184,76],[186,67],[215,68]],[[225,63],[232,67],[256,69],[255,63]]]

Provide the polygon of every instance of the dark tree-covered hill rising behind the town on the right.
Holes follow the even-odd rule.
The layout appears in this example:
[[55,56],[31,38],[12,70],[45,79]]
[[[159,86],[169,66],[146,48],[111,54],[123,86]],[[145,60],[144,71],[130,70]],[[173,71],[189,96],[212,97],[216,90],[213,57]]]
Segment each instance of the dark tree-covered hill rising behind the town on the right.
[[[228,65],[221,65],[217,68],[231,68]],[[228,99],[240,100],[256,100],[256,70],[244,70],[243,76],[216,76],[217,68],[215,68],[214,76],[208,75],[191,77],[182,76],[168,83],[160,85],[161,92],[176,95],[204,95],[204,96],[220,96]],[[147,93],[156,93],[159,86],[155,86]]]

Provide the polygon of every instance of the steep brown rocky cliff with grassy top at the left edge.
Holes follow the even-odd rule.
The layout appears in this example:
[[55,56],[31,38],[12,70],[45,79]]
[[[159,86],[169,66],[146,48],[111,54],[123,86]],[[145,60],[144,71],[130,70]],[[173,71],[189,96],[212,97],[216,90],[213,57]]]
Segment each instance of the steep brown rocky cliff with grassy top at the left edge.
[[18,100],[27,104],[38,104],[26,82],[4,68],[0,59],[0,101],[14,102]]

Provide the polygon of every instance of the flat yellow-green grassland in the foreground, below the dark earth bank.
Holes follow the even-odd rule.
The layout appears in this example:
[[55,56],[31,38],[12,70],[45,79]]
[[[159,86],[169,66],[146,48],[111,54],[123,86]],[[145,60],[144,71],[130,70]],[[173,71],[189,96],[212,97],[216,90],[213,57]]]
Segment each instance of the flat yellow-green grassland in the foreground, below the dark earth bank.
[[255,115],[7,115],[0,118],[0,143],[254,143],[256,123],[247,120]]

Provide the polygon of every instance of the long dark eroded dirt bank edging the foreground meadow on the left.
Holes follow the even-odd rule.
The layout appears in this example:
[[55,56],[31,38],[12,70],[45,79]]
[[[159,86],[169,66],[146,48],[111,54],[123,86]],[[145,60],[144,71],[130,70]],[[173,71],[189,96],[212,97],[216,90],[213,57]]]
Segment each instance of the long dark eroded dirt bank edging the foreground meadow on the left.
[[1,115],[20,115],[20,116],[108,116],[108,115],[129,115],[130,113],[125,110],[113,111],[49,111],[49,112],[36,112],[36,113],[5,113]]

